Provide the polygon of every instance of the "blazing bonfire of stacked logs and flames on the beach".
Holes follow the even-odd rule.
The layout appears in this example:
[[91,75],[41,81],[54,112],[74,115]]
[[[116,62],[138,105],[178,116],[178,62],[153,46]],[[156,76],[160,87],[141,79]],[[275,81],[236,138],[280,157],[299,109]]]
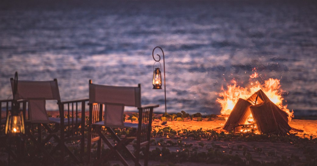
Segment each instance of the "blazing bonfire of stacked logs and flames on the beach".
[[226,89],[222,88],[217,102],[221,105],[221,114],[228,115],[223,126],[227,131],[287,133],[291,130],[288,122],[294,117],[293,110],[287,108],[282,97],[280,80],[263,79],[256,68],[249,78],[249,85],[241,87],[235,80]]

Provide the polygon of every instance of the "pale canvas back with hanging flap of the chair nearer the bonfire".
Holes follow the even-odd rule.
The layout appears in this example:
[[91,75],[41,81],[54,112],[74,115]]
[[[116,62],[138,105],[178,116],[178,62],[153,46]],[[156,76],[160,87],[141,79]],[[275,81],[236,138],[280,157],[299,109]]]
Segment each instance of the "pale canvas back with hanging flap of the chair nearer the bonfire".
[[89,84],[89,103],[105,104],[104,124],[123,126],[124,106],[141,107],[141,87]]

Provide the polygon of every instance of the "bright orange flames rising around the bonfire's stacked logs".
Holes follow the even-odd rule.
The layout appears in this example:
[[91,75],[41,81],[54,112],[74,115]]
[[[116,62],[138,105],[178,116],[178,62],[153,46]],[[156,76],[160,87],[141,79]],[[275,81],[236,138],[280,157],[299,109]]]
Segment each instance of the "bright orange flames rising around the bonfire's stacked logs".
[[[252,71],[254,70],[256,71],[255,68],[252,69]],[[254,72],[252,75],[250,75],[251,79],[258,77],[259,74],[257,72]],[[218,93],[218,96],[220,98],[217,98],[216,101],[221,105],[221,114],[229,115],[239,98],[248,99],[258,90],[262,89],[262,91],[273,103],[275,103],[275,105],[277,105],[279,108],[281,108],[281,110],[288,114],[289,122],[294,117],[293,111],[289,111],[289,109],[287,108],[287,104],[283,105],[282,103],[284,98],[281,96],[282,89],[280,85],[280,80],[270,78],[268,80],[265,80],[263,85],[261,85],[259,81],[250,82],[250,88],[238,86],[236,81],[234,80],[232,80],[231,83],[232,85],[228,85],[226,89],[222,87],[222,92]],[[253,123],[252,114],[248,118],[246,124],[250,123]]]

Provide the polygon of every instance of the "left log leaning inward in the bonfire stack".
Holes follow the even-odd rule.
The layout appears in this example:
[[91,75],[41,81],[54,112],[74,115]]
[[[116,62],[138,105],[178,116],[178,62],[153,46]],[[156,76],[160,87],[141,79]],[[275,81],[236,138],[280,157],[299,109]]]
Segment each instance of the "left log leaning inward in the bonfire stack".
[[251,114],[250,106],[252,104],[248,101],[239,98],[236,105],[233,107],[227,122],[224,124],[223,129],[226,131],[235,130],[239,124],[244,124]]

